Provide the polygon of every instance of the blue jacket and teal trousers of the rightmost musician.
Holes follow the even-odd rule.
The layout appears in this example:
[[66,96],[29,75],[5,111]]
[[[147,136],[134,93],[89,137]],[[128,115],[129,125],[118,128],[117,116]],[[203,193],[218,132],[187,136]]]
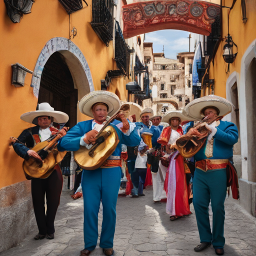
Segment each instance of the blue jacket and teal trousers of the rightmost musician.
[[[213,136],[212,157],[205,155],[206,143],[194,155],[195,161],[202,159],[228,159],[233,156],[233,144],[237,142],[238,130],[234,123],[220,121]],[[193,205],[200,235],[200,242],[212,242],[213,247],[223,248],[224,200],[226,196],[226,169],[211,169],[204,172],[195,168],[193,177]],[[209,223],[208,205],[212,207],[212,233]]]

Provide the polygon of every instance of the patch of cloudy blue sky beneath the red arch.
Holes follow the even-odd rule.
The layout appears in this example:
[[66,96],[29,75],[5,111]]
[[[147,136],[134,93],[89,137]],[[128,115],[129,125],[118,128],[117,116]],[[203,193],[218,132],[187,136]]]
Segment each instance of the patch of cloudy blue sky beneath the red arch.
[[[188,51],[189,32],[174,29],[165,29],[145,34],[145,42],[153,43],[153,52],[162,52],[164,45],[164,56],[166,58],[176,59],[177,52]],[[190,46],[193,51],[193,46]]]

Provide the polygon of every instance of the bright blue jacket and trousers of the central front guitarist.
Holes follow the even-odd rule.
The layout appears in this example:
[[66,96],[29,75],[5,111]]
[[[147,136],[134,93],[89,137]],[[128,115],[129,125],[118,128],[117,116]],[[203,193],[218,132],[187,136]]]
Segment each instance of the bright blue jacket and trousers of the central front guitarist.
[[[136,146],[140,142],[137,129],[125,135],[114,124],[119,143],[110,157],[120,158],[121,144]],[[78,122],[72,127],[58,143],[58,150],[76,151],[80,147],[80,138],[92,129],[92,120]],[[98,210],[100,200],[103,205],[103,221],[100,234],[101,248],[112,248],[116,219],[116,201],[120,187],[120,166],[109,168],[97,168],[95,170],[83,170],[82,195],[84,206],[84,248],[93,250],[98,238]]]

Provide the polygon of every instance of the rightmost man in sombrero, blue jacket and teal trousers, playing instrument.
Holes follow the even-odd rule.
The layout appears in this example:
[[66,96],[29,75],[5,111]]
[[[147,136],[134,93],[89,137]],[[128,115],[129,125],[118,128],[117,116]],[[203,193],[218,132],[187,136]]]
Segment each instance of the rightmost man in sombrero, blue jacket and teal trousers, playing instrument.
[[[218,120],[231,110],[231,103],[216,95],[194,99],[185,106],[183,113],[196,119],[204,118],[206,121],[190,128],[185,135],[176,140],[178,150],[186,154],[186,151],[193,151],[193,147],[184,151],[186,146],[183,146],[182,139],[190,137],[195,144],[199,144],[203,137],[206,138],[201,148],[197,149],[195,154],[190,154],[194,155],[195,159],[193,205],[200,236],[200,244],[194,250],[201,251],[212,244],[217,255],[224,254],[224,201],[230,183],[233,198],[239,197],[237,174],[231,163],[238,130],[234,123]],[[196,137],[201,139],[196,140]],[[208,213],[210,201],[213,213],[212,232]]]

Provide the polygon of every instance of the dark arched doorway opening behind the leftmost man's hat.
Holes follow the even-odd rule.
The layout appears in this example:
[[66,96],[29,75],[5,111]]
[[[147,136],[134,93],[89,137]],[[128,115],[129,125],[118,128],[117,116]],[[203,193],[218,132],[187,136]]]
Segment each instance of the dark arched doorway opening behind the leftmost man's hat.
[[38,103],[48,102],[54,110],[68,114],[66,126],[72,127],[77,120],[77,89],[64,56],[59,52],[50,55],[40,80]]

